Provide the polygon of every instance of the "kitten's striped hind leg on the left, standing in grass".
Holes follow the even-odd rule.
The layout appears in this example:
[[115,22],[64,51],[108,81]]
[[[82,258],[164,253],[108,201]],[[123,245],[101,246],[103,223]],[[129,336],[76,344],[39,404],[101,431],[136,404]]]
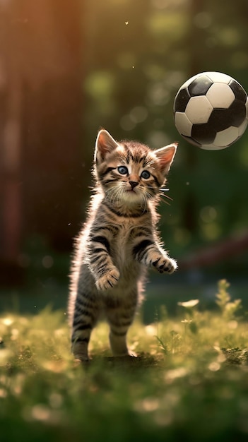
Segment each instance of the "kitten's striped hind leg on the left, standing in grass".
[[88,361],[88,343],[98,316],[99,311],[90,297],[77,297],[71,333],[71,350],[76,359]]

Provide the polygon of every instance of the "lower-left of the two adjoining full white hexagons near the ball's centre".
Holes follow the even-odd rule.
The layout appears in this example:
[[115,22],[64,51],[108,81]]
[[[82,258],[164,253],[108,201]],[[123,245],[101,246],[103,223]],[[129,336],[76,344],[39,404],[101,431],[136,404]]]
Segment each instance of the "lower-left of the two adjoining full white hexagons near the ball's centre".
[[185,109],[185,114],[192,124],[203,124],[208,122],[212,111],[213,106],[207,97],[201,95],[199,97],[191,97]]

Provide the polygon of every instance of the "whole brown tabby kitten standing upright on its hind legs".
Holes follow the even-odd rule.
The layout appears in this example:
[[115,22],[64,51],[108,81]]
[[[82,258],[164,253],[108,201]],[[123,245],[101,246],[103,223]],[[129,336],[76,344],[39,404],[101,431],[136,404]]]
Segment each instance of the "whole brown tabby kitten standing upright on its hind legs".
[[150,150],[114,141],[101,130],[95,144],[95,196],[76,241],[69,316],[72,350],[88,360],[90,333],[102,313],[110,324],[114,356],[130,354],[126,333],[134,319],[146,268],[172,273],[177,263],[163,249],[155,211],[177,144]]

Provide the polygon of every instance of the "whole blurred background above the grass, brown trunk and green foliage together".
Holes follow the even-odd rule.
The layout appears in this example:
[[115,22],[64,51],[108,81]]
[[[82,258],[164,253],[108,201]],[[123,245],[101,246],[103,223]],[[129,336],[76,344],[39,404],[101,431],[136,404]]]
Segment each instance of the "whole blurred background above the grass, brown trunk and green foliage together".
[[160,205],[177,278],[247,275],[248,134],[199,150],[173,121],[196,73],[228,73],[248,90],[247,17],[247,0],[0,1],[4,285],[67,277],[100,127],[151,148],[179,141],[172,201]]

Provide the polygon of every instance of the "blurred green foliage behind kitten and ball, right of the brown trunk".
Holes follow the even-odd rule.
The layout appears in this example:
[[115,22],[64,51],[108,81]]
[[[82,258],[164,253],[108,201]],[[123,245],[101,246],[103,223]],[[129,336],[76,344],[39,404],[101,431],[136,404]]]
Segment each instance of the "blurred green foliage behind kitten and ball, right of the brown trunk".
[[115,138],[152,148],[179,141],[168,180],[173,201],[161,205],[163,237],[179,258],[247,228],[247,134],[227,150],[198,150],[180,138],[172,114],[180,85],[201,71],[228,73],[247,90],[244,11],[242,0],[225,8],[223,1],[203,0],[138,0],[135,7],[128,0],[109,0],[88,6],[87,153],[91,158],[99,126]]

